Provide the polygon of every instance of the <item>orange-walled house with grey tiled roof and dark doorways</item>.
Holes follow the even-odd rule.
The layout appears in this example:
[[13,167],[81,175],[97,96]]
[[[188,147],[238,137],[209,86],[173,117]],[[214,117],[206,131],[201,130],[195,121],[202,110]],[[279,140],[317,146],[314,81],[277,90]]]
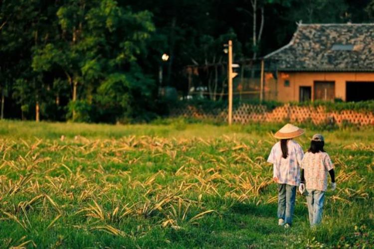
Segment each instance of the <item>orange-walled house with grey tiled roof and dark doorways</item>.
[[278,101],[374,99],[374,23],[298,24],[290,43],[263,59],[276,65]]

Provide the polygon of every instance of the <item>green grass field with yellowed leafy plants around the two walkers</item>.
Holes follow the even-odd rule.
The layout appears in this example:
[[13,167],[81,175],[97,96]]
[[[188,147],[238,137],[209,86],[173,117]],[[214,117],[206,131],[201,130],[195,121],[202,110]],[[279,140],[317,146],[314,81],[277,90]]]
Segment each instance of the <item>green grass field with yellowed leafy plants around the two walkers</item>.
[[374,128],[297,139],[325,135],[338,188],[317,230],[300,195],[285,230],[265,162],[281,126],[0,122],[0,245],[373,247]]

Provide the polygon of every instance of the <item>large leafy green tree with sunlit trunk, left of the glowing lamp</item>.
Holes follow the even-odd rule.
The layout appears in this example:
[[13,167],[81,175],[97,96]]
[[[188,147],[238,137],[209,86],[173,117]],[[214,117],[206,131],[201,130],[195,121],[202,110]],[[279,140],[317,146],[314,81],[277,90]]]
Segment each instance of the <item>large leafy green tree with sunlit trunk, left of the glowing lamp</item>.
[[36,49],[32,66],[39,72],[64,73],[72,87],[70,106],[76,120],[75,104],[80,98],[91,105],[101,84],[113,83],[113,79],[124,87],[128,84],[123,79],[137,56],[145,52],[154,25],[150,12],[133,13],[115,0],[70,0],[59,7],[57,16],[62,39]]

